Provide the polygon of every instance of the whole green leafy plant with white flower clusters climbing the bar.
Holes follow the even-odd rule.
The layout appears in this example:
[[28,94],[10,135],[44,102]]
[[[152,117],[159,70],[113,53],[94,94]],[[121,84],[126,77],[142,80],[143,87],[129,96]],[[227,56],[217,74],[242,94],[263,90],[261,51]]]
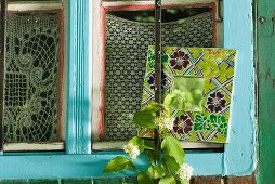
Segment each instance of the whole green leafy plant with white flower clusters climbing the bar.
[[[171,118],[172,110],[184,109],[188,103],[184,93],[174,91],[165,98],[163,104],[153,102],[143,107],[141,111],[134,115],[134,122],[141,128],[158,132],[158,136],[155,140],[132,137],[126,146],[127,148],[125,148],[131,159],[118,156],[107,163],[104,172],[114,173],[131,169],[138,172],[140,184],[183,183],[184,181],[180,181],[178,171],[184,162],[185,154],[181,143],[170,135],[169,129],[171,128],[167,118]],[[138,147],[139,150],[136,150]],[[133,160],[143,152],[147,155],[149,167],[146,171],[139,171]]]

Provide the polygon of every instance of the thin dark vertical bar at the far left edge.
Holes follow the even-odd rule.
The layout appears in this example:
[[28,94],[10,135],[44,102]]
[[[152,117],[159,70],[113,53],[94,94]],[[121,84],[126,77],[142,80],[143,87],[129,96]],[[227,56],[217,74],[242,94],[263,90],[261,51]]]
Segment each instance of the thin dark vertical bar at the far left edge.
[[4,130],[4,58],[5,58],[5,16],[6,0],[1,0],[1,19],[0,19],[0,152],[3,152]]

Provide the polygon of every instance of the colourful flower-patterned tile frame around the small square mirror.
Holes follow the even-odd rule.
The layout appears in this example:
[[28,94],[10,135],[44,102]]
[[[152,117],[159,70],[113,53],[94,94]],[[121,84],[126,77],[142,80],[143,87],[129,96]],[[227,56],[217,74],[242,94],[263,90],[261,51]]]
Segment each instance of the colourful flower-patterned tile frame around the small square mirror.
[[[142,105],[154,101],[155,55],[148,48]],[[172,134],[179,140],[226,143],[236,50],[218,48],[162,48],[162,98],[176,76],[204,78],[201,110],[175,110]],[[152,132],[141,130],[141,135]]]

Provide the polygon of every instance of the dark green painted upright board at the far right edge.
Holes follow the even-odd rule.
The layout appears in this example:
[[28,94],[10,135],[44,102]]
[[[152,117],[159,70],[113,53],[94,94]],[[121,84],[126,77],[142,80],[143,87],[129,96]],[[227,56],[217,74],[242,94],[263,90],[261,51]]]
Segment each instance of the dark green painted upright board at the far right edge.
[[275,183],[275,32],[272,21],[275,18],[274,10],[274,0],[258,1],[259,184]]

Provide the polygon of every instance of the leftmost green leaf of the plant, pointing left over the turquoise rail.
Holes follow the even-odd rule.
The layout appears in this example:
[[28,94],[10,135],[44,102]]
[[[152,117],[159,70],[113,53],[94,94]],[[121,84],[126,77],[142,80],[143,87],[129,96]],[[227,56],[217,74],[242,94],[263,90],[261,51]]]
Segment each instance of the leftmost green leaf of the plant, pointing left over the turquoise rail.
[[126,169],[133,169],[135,170],[136,167],[134,166],[133,161],[121,157],[117,156],[116,158],[112,159],[105,167],[104,173],[115,173],[119,172]]

